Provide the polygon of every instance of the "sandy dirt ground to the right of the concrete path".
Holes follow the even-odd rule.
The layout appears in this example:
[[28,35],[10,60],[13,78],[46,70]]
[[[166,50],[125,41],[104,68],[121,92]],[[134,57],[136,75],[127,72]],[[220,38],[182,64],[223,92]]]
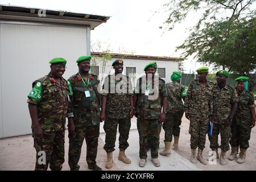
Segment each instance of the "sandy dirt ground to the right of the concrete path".
[[[184,114],[185,115],[185,114]],[[190,159],[191,157],[191,149],[190,149],[190,134],[188,133],[189,129],[189,120],[185,118],[183,115],[182,122],[181,122],[181,129],[180,129],[180,140],[179,140],[179,148],[177,150],[174,150],[177,152],[179,155],[183,156],[186,159]],[[163,143],[164,140],[164,130],[161,132],[161,140],[160,142]],[[218,138],[218,144],[220,145],[220,136]],[[208,164],[204,165],[201,164],[199,161],[197,161],[196,167],[203,169],[203,170],[220,170],[220,171],[225,171],[225,170],[236,170],[236,171],[249,171],[249,170],[256,170],[256,127],[254,127],[251,130],[251,138],[249,141],[250,147],[246,151],[246,161],[243,164],[238,164],[236,162],[236,159],[233,161],[230,161],[227,159],[228,164],[225,166],[222,166],[220,164],[220,160],[217,159],[217,164]],[[203,155],[205,159],[208,157],[209,151],[210,151],[210,142],[207,136],[206,143],[205,143],[205,149],[203,152]],[[231,147],[230,147],[231,151]],[[227,156],[230,154],[230,151],[227,152]],[[218,149],[218,153],[220,154],[221,149]],[[238,155],[237,155],[238,156]]]

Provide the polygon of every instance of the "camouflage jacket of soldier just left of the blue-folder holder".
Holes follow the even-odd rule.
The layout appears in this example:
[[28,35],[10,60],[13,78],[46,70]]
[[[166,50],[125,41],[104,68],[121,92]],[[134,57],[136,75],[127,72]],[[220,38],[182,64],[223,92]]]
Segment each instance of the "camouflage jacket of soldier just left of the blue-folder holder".
[[212,89],[213,82],[207,81],[207,85],[203,86],[198,80],[192,80],[188,87],[187,97],[184,102],[185,112],[191,115],[207,115],[212,114]]

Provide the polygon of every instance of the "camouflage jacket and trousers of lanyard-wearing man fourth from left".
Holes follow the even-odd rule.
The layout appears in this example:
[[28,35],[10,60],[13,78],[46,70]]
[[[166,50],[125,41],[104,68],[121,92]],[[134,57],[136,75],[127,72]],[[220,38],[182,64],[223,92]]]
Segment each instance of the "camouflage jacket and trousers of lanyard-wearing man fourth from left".
[[[156,77],[156,76],[155,76]],[[147,158],[147,139],[151,133],[151,158],[158,158],[159,149],[159,134],[162,123],[159,123],[159,118],[162,110],[162,98],[167,97],[166,84],[164,80],[157,78],[152,81],[152,87],[149,86],[149,96],[145,96],[143,83],[146,82],[146,76],[137,80],[135,94],[137,94],[137,102],[135,104],[135,111],[137,119],[137,128],[139,131],[139,158]],[[153,89],[152,89],[153,88]],[[151,96],[156,90],[155,100],[151,100]]]

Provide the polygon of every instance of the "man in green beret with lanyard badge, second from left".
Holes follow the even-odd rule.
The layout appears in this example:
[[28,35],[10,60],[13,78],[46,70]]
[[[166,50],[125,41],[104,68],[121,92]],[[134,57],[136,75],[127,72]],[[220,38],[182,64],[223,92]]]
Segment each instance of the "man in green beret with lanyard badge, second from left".
[[81,147],[86,141],[86,162],[94,171],[102,170],[96,164],[98,137],[100,136],[101,95],[98,93],[99,80],[91,75],[90,56],[77,59],[79,72],[68,79],[72,95],[69,118],[73,117],[75,131],[69,133],[68,164],[71,170],[79,170]]

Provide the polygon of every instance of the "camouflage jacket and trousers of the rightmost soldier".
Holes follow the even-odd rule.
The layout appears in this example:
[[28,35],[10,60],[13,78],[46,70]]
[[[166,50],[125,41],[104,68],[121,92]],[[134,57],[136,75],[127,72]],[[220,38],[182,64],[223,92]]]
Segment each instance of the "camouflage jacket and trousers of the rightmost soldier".
[[231,124],[232,137],[230,144],[232,147],[239,147],[242,149],[249,148],[249,140],[251,134],[251,114],[250,109],[254,108],[254,97],[249,91],[244,90],[238,93],[238,108]]

